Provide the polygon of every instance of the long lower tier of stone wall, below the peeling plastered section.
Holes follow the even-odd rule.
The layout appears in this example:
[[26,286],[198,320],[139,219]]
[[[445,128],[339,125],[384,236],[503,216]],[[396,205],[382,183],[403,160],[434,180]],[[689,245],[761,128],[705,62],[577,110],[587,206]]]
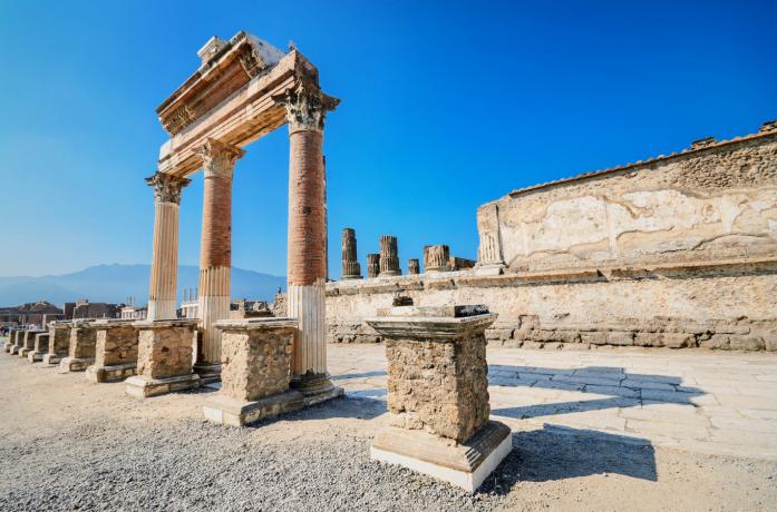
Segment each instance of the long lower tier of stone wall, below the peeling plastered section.
[[397,296],[415,305],[485,304],[491,343],[533,348],[645,346],[777,351],[777,258],[483,276],[474,270],[327,285],[331,343],[375,343],[363,319]]

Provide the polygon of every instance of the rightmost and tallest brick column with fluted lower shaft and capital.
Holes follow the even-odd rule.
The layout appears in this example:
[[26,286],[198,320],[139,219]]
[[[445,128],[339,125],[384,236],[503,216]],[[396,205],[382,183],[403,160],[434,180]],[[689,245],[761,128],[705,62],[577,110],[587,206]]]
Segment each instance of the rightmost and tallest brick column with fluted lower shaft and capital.
[[324,283],[327,278],[323,121],[339,100],[314,83],[300,83],[275,98],[289,121],[288,315],[297,318],[292,386],[331,386],[327,375]]

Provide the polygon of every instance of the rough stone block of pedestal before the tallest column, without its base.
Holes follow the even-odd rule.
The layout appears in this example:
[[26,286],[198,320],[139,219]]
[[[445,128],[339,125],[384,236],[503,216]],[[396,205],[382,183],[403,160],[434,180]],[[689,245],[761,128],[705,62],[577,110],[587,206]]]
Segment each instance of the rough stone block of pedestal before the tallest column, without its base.
[[[293,326],[221,323],[222,393],[255,401],[289,390]],[[229,327],[232,325],[232,327]]]

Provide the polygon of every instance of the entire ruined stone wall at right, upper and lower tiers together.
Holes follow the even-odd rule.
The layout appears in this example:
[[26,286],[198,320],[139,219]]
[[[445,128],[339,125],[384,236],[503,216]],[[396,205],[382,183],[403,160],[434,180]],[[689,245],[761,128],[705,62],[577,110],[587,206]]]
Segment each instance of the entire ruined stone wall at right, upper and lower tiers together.
[[477,225],[473,270],[329,283],[329,341],[380,341],[363,318],[399,295],[485,304],[512,346],[777,351],[777,130],[517,190]]

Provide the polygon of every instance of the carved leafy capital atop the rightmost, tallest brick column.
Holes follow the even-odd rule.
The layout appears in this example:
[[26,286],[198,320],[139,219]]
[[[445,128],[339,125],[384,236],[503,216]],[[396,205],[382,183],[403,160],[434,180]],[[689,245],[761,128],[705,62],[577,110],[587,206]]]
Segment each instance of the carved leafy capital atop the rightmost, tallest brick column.
[[301,130],[322,132],[327,112],[340,104],[339,99],[323,93],[317,85],[304,81],[272,99],[275,105],[285,107],[290,135]]

